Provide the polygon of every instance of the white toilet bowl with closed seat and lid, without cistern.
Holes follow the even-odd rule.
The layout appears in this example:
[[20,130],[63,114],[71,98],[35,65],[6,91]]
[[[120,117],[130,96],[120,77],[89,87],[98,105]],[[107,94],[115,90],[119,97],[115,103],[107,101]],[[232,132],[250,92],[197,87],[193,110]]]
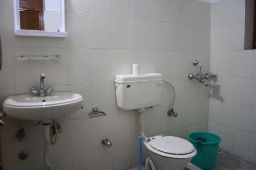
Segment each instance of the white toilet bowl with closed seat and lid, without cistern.
[[197,154],[193,144],[175,136],[154,136],[144,141],[158,170],[183,170]]

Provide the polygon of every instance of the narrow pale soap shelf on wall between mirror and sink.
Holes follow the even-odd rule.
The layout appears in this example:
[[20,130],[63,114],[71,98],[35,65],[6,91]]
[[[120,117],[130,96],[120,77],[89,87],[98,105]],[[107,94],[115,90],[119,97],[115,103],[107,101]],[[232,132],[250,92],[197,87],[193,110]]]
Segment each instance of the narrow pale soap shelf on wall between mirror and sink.
[[16,59],[18,61],[26,61],[26,60],[61,60],[62,55],[34,55],[34,56],[17,56]]

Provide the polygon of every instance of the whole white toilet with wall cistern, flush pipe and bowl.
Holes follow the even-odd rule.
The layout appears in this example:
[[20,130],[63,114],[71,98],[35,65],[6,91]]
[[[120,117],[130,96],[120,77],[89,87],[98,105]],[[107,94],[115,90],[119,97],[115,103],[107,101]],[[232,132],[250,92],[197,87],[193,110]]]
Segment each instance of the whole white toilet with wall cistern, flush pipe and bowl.
[[145,114],[146,108],[160,104],[163,83],[162,74],[155,72],[116,75],[117,106],[123,110],[138,112],[141,136],[151,155],[147,159],[151,164],[150,170],[183,170],[197,153],[193,144],[174,136],[146,137],[142,129],[142,114]]

